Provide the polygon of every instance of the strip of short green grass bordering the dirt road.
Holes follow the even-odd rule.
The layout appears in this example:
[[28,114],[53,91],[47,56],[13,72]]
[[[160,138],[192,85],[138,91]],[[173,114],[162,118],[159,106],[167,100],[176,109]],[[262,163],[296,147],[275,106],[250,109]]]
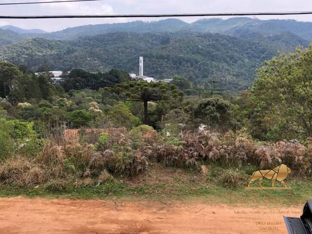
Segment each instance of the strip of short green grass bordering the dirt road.
[[[86,184],[77,186],[18,187],[0,185],[0,196],[24,195],[27,197],[80,198],[80,199],[148,199],[188,200],[196,199],[208,203],[225,204],[303,204],[312,198],[312,181],[289,176],[285,181],[291,190],[246,190],[253,167],[243,166],[240,170],[224,169],[208,165],[207,175],[201,172],[163,167],[154,163],[143,175],[125,179],[112,178],[98,186]],[[252,185],[257,187],[256,181]],[[270,180],[263,181],[270,187]],[[281,186],[276,182],[275,186]]]

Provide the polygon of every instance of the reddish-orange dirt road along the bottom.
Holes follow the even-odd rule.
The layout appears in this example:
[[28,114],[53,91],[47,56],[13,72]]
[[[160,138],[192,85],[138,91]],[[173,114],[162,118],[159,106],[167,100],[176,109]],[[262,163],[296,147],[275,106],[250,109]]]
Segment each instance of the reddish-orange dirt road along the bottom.
[[276,213],[299,216],[301,209],[12,197],[0,198],[0,234],[285,234]]

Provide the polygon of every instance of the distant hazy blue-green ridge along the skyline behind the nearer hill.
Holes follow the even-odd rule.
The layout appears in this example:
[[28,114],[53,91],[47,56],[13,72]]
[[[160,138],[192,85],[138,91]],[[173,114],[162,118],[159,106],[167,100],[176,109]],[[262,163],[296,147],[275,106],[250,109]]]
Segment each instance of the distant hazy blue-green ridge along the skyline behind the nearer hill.
[[291,32],[298,37],[312,41],[312,22],[300,22],[295,20],[259,20],[247,17],[222,19],[202,19],[193,23],[187,23],[177,19],[158,20],[153,22],[132,21],[127,23],[84,25],[67,28],[58,32],[46,34],[33,34],[32,37],[44,37],[46,39],[77,39],[84,36],[95,36],[114,32],[211,32],[235,36],[236,31],[249,30],[262,36]]

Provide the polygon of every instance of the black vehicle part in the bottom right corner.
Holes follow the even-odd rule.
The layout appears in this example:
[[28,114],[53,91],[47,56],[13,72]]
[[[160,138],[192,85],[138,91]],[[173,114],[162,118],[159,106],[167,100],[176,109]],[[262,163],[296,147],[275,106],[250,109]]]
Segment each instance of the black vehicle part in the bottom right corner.
[[289,234],[312,234],[312,200],[305,204],[300,218],[284,216],[284,221]]

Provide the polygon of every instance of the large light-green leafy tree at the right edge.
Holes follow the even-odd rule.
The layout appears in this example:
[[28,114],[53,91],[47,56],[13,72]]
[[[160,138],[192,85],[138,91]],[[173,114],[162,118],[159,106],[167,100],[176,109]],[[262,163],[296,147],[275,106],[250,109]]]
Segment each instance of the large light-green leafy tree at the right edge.
[[280,55],[259,69],[251,89],[264,138],[312,136],[312,45]]

